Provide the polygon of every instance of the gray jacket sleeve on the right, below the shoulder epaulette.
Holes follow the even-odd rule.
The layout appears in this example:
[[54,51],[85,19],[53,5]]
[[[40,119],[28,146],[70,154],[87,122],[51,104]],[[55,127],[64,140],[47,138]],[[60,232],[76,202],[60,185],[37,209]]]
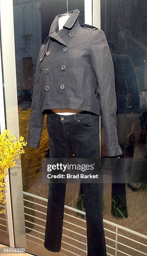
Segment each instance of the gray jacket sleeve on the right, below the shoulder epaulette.
[[90,44],[90,54],[99,87],[106,154],[108,156],[119,156],[122,154],[122,149],[119,146],[117,137],[117,98],[114,65],[106,36],[101,29],[94,30]]

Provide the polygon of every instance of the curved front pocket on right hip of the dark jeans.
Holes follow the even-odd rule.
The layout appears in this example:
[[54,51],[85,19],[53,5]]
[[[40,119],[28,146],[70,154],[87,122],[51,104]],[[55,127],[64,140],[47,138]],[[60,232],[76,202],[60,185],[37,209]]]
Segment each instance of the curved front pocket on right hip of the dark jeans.
[[79,125],[84,129],[92,129],[96,127],[96,117],[78,118]]

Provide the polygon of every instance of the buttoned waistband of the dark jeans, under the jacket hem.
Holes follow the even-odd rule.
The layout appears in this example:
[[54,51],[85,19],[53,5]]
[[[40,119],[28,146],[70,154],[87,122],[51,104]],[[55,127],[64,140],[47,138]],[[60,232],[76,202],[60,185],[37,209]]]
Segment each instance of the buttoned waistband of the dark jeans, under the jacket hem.
[[[64,113],[63,113],[64,114]],[[91,118],[92,116],[97,116],[95,113],[93,112],[89,112],[89,111],[81,111],[79,113],[76,113],[76,114],[71,114],[71,115],[59,115],[59,114],[56,114],[54,113],[52,110],[51,112],[48,114],[50,119],[51,120],[59,120],[59,121],[64,121],[64,122],[70,122],[70,121],[76,121],[78,122],[78,118],[86,118],[86,117],[89,117]]]

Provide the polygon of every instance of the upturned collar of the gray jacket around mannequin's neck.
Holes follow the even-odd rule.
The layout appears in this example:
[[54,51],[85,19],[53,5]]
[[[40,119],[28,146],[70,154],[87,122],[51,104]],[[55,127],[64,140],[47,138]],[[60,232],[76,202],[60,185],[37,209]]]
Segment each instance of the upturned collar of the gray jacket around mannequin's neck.
[[[70,28],[72,28],[74,26],[75,23],[76,23],[75,25],[78,26],[79,22],[78,22],[77,18],[78,18],[78,15],[79,15],[80,11],[78,9],[76,9],[76,10],[71,10],[68,13],[71,13],[71,15],[69,16],[68,20],[64,24],[63,28],[70,29]],[[66,14],[66,13],[61,13],[61,14],[56,15],[56,17],[54,18],[54,20],[53,20],[53,22],[51,24],[48,36],[50,36],[51,33],[58,31],[58,19],[63,14]]]

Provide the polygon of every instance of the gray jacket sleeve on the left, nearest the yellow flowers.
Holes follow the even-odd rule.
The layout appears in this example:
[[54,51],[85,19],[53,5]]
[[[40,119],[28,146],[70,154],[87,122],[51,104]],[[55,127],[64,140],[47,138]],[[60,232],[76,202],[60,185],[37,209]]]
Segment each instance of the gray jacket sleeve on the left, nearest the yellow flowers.
[[[41,46],[42,49],[42,46]],[[41,111],[41,68],[40,68],[40,53],[35,72],[35,81],[33,87],[33,97],[30,110],[30,119],[28,127],[27,147],[39,148],[41,133],[43,129],[44,113]]]

